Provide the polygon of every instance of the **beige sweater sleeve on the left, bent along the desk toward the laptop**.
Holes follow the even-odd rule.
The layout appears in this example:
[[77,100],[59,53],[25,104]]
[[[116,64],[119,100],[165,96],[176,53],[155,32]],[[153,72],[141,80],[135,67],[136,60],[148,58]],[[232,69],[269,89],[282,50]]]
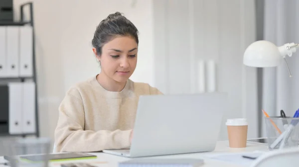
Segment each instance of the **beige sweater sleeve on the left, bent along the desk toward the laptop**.
[[130,147],[132,130],[84,130],[85,114],[82,99],[67,93],[59,107],[55,129],[57,152],[95,152]]

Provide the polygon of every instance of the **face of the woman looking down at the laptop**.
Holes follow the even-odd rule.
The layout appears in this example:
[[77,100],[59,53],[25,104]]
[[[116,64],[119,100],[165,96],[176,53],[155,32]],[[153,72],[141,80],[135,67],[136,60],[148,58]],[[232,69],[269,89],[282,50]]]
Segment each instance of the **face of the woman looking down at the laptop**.
[[97,56],[101,72],[117,82],[126,82],[136,68],[137,52],[138,45],[133,37],[114,38],[102,47],[102,55]]

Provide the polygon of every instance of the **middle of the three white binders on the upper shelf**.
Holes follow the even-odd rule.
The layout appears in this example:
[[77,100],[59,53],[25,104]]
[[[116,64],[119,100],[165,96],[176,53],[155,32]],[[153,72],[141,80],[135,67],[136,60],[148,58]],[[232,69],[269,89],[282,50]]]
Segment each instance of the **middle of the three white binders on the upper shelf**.
[[18,77],[19,26],[6,27],[7,77]]

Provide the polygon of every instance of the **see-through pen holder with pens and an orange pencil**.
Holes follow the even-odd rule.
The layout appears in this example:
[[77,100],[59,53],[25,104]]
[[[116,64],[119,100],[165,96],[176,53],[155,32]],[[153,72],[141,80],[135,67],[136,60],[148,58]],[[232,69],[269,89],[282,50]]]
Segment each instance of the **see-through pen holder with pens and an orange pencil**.
[[299,144],[299,118],[265,117],[269,149],[297,147]]

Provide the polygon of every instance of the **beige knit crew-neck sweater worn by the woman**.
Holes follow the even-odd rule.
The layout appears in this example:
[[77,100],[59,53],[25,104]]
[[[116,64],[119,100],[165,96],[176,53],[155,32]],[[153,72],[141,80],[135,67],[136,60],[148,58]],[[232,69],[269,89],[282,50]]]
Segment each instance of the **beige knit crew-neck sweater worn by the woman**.
[[57,152],[94,152],[130,147],[140,95],[162,94],[130,79],[121,92],[105,90],[96,76],[66,93],[55,129]]

